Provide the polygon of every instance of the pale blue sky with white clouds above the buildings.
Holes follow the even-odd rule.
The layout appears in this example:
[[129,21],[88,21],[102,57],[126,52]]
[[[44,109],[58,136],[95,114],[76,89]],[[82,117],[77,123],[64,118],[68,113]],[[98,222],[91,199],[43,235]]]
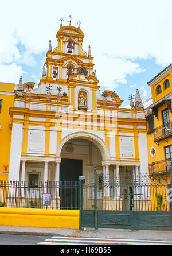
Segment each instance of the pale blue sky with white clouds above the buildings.
[[42,77],[49,40],[57,46],[60,18],[84,33],[91,45],[101,92],[115,91],[122,107],[139,90],[151,97],[147,82],[172,59],[171,0],[0,0],[0,82],[35,82]]

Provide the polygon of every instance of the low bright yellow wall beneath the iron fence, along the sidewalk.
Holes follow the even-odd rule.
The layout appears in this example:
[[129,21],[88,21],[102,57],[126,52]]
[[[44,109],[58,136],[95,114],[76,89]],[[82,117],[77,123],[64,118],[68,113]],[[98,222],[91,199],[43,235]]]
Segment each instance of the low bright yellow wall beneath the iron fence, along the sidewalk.
[[0,207],[0,225],[79,229],[79,210]]

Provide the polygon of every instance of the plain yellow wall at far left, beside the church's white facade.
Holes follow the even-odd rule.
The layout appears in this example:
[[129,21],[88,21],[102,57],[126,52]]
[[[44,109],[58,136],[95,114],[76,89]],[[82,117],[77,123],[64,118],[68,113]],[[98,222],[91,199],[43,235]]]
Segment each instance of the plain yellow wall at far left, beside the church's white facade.
[[[6,172],[9,170],[11,142],[11,130],[9,127],[11,117],[9,115],[9,108],[14,104],[14,95],[11,95],[11,93],[14,93],[14,86],[15,84],[0,83],[0,99],[2,99],[0,111],[0,180],[6,180],[6,176],[1,175],[1,172],[5,172],[4,165],[8,166]],[[3,92],[6,94],[3,94]]]

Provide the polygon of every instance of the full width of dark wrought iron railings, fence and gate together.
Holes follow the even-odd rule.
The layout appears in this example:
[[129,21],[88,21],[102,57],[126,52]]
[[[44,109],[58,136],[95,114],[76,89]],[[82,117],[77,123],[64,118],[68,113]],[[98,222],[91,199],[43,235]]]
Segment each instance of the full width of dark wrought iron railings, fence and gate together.
[[169,183],[144,176],[105,176],[91,184],[0,181],[0,206],[105,211],[170,211]]

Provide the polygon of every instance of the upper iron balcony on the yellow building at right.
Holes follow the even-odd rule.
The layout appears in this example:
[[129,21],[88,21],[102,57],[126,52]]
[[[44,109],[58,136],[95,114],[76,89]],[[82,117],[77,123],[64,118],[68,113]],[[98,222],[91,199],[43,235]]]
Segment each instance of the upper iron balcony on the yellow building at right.
[[159,126],[154,131],[154,142],[162,141],[172,136],[172,122]]

